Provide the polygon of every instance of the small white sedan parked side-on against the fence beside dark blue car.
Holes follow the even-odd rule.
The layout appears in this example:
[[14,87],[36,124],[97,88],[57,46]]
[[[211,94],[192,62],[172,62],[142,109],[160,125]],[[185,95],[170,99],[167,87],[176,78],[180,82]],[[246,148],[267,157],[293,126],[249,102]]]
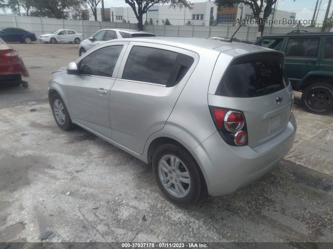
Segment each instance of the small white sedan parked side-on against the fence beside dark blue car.
[[52,43],[69,42],[79,44],[83,41],[83,35],[70,29],[57,29],[50,34],[41,35],[38,40],[40,42]]

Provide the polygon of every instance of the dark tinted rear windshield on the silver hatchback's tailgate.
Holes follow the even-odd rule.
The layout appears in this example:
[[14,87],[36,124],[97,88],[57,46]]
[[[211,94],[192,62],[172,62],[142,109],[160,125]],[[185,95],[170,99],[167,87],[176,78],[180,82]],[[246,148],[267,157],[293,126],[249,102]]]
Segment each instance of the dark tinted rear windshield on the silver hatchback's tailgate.
[[251,98],[282,90],[288,79],[274,54],[248,55],[235,59],[227,68],[216,95]]

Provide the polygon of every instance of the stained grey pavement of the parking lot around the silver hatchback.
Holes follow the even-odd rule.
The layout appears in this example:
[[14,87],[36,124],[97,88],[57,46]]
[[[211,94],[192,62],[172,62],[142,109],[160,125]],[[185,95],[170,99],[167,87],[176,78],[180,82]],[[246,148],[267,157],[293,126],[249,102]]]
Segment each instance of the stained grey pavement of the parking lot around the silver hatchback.
[[78,57],[77,45],[10,46],[30,77],[28,88],[0,87],[0,242],[39,242],[47,231],[50,242],[333,242],[333,112],[306,112],[296,93],[285,159],[233,194],[183,209],[149,165],[57,127],[47,80]]

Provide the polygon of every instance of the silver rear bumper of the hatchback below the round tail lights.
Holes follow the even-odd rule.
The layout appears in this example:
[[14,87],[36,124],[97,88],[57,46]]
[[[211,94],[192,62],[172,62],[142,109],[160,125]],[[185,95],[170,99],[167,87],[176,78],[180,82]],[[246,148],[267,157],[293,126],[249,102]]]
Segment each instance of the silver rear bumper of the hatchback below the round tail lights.
[[234,192],[270,171],[291,149],[296,121],[291,117],[286,129],[276,138],[260,146],[228,146],[215,132],[193,149],[210,195]]

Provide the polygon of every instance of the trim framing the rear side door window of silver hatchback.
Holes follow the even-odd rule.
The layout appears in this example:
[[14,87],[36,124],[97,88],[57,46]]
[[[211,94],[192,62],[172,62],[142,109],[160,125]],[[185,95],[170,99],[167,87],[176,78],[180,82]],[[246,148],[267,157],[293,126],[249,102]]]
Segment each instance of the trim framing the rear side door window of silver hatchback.
[[[181,57],[181,55],[183,55],[183,56],[189,56],[190,58],[192,58],[192,63],[188,67],[188,69],[187,69],[186,73],[183,75],[183,77],[179,81],[177,81],[175,84],[168,84],[169,83],[169,79],[168,79],[168,81],[166,82],[165,85],[164,84],[158,84],[158,83],[152,83],[152,82],[146,82],[146,81],[123,79],[122,77],[123,77],[123,74],[124,74],[124,70],[125,70],[125,67],[126,67],[127,60],[128,60],[128,58],[129,58],[129,56],[131,54],[132,49],[134,47],[136,47],[136,46],[137,47],[146,47],[146,48],[160,49],[160,50],[165,50],[165,51],[170,51],[170,52],[177,53],[176,59],[173,62],[173,65],[172,65],[172,68],[171,68],[171,71],[170,71],[169,79],[173,79],[175,76],[177,76],[177,75],[175,75],[175,73],[178,74],[178,72],[179,72],[179,69],[177,70],[177,67],[179,66],[179,59],[178,59],[179,55],[180,55],[180,57]],[[178,61],[178,63],[176,63],[177,61]],[[168,49],[155,48],[155,47],[151,47],[151,46],[133,45],[132,48],[131,48],[131,50],[129,51],[127,57],[126,57],[126,63],[124,65],[124,68],[122,68],[122,75],[121,75],[120,78],[117,77],[117,80],[130,81],[130,82],[141,83],[141,84],[156,85],[156,86],[162,86],[162,87],[173,87],[173,86],[176,86],[184,78],[184,76],[187,74],[187,72],[189,71],[189,69],[192,67],[194,61],[195,61],[195,58],[193,56],[185,55],[185,54],[180,53],[180,52],[176,52],[176,51],[172,51],[172,50],[168,50]],[[178,65],[176,66],[176,64],[178,64]]]

